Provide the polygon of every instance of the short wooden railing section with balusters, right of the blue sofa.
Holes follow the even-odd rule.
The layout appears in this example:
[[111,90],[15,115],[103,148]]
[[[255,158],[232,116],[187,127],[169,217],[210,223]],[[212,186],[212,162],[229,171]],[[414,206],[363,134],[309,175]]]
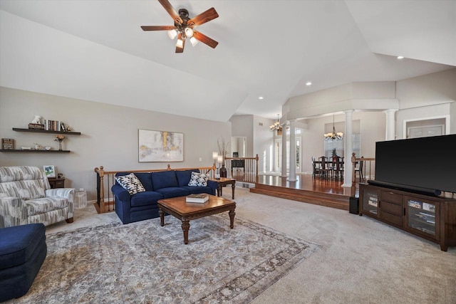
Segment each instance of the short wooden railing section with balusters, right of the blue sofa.
[[258,182],[258,154],[256,157],[225,157],[227,177],[236,182]]

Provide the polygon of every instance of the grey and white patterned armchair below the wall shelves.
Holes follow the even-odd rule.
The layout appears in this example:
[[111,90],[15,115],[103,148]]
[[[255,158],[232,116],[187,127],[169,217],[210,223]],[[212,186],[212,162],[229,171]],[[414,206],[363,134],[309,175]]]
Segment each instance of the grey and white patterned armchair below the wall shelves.
[[74,194],[73,188],[51,189],[38,167],[0,167],[0,227],[73,223]]

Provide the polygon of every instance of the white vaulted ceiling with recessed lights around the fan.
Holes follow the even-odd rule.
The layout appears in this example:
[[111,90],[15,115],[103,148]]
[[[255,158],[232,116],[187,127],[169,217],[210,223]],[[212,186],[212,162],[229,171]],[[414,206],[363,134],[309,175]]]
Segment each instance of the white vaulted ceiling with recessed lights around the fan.
[[217,48],[175,53],[165,31],[142,31],[172,25],[158,1],[0,0],[0,85],[226,122],[276,119],[288,98],[343,83],[456,66],[456,1],[170,3],[190,17],[213,6],[219,18],[198,30]]

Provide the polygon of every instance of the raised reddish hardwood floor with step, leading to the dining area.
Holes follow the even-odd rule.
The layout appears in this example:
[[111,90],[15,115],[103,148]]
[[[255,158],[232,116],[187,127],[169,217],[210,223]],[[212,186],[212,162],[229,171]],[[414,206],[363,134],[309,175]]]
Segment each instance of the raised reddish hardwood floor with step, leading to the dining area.
[[340,179],[313,178],[311,174],[296,174],[296,182],[289,182],[287,177],[264,174],[259,175],[258,183],[250,192],[348,210],[351,189],[342,187],[342,184]]

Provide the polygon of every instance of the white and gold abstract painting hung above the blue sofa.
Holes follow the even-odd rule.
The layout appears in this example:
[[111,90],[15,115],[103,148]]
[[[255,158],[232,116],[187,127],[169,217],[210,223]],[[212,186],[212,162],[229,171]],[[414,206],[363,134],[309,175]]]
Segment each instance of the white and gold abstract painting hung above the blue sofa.
[[138,130],[139,162],[183,162],[184,133]]

